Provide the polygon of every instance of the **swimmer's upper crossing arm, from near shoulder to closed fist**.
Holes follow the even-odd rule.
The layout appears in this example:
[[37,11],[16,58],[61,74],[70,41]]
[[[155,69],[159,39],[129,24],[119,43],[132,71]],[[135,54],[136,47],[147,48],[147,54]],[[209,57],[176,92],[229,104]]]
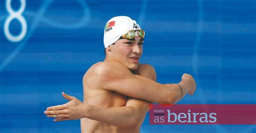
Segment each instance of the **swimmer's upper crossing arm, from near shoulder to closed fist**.
[[144,99],[158,104],[175,104],[185,94],[193,94],[196,83],[192,76],[184,74],[179,85],[159,84],[149,78],[133,75],[129,69],[118,62],[104,62],[95,73],[94,83],[98,88],[118,92],[129,97]]

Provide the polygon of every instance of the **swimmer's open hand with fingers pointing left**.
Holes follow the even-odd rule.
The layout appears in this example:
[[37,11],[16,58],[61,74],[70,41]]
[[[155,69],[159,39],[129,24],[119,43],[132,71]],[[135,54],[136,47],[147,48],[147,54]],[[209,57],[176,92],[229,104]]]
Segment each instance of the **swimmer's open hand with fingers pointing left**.
[[77,120],[84,117],[86,106],[82,101],[62,92],[62,96],[69,102],[63,105],[48,107],[44,114],[47,117],[57,117],[53,121]]

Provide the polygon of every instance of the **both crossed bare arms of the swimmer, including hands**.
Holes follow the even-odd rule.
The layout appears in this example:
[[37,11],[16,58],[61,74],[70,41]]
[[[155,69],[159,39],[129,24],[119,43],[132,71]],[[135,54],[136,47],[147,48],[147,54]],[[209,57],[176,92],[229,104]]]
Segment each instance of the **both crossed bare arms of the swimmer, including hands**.
[[[97,84],[99,88],[102,88],[104,90],[116,91],[129,97],[145,99],[160,104],[174,104],[181,98],[181,92],[178,85],[163,85],[156,83],[149,78],[133,75],[130,70],[128,70],[118,62],[104,63],[103,66],[98,67],[98,70],[96,72],[96,79],[93,80],[96,83],[93,84]],[[193,94],[196,87],[196,85],[193,84],[194,81],[188,80],[187,78],[191,79],[189,75],[185,75],[183,76],[183,81],[179,83],[183,87],[183,96],[189,91],[191,92],[191,94]],[[190,84],[189,82],[192,82],[192,84]],[[188,83],[188,85],[186,85],[186,83]],[[129,91],[127,91],[127,86],[130,88]],[[155,93],[156,90],[158,93]],[[145,117],[145,114],[143,113],[147,112],[148,106],[146,104],[149,103],[140,99],[137,99],[138,101],[136,101],[136,99],[131,99],[130,101],[127,101],[125,107],[112,107],[105,108],[105,110],[103,110],[103,108],[86,105],[75,97],[71,97],[64,93],[63,97],[70,100],[70,102],[64,105],[49,107],[47,109],[48,111],[46,111],[45,114],[48,114],[49,117],[58,117],[58,119],[55,119],[56,121],[75,120],[87,117],[92,120],[102,121],[107,124],[116,125],[119,127],[129,126],[130,124],[127,124],[127,120],[131,123],[134,123],[134,121],[135,123],[138,123],[139,120],[141,120],[141,117]],[[140,112],[139,110],[143,111]],[[93,115],[93,113],[90,113],[90,111],[103,114]],[[114,114],[116,115],[112,117],[107,117],[110,116],[112,112],[115,112]],[[140,113],[140,115],[136,115],[135,117],[129,117],[132,114],[131,112],[138,112],[138,114]],[[102,117],[103,115],[106,117]],[[117,116],[124,116],[122,120],[127,119],[125,124],[122,123],[120,117]]]

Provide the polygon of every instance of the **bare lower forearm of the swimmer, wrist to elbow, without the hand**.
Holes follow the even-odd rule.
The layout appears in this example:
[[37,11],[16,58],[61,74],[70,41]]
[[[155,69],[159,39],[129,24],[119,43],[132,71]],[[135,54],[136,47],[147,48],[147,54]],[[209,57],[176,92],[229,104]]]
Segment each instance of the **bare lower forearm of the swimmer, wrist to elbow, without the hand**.
[[141,99],[129,99],[127,102],[123,107],[102,108],[90,105],[84,117],[120,128],[134,127],[144,120],[149,105]]

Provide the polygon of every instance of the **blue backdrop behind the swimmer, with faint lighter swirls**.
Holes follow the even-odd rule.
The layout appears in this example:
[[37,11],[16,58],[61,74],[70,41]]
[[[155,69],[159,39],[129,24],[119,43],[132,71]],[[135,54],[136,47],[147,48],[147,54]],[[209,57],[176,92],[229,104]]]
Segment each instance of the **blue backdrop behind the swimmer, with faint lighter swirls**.
[[[12,9],[21,3],[12,0]],[[197,91],[180,104],[256,104],[256,1],[26,0],[23,40],[9,41],[0,1],[0,132],[80,132],[80,122],[53,122],[46,107],[64,91],[83,99],[82,77],[104,60],[106,21],[130,16],[145,29],[142,63],[160,83],[191,73]],[[10,32],[22,28],[17,19]],[[141,132],[255,132],[255,125],[150,125]]]

